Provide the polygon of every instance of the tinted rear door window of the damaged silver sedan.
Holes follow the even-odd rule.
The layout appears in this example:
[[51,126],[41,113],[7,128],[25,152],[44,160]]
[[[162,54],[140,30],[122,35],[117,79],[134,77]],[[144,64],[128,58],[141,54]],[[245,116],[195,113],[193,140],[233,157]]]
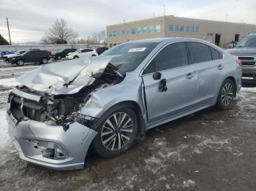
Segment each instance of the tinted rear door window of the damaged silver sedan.
[[212,61],[210,47],[200,42],[188,42],[193,63]]

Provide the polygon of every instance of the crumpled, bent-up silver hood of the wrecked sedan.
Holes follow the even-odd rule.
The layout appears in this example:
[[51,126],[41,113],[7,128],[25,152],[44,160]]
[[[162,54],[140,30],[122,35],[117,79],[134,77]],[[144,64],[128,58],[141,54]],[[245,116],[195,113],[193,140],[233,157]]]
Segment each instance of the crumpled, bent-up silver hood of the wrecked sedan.
[[105,71],[113,56],[50,63],[17,78],[33,90],[53,95],[77,93]]

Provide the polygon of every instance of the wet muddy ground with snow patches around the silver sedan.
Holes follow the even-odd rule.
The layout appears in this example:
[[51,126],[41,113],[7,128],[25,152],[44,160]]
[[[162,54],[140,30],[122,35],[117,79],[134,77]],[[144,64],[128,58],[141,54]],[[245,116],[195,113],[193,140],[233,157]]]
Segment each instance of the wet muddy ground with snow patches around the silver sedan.
[[[7,90],[1,91],[4,104]],[[255,190],[256,88],[243,88],[229,111],[214,108],[168,122],[119,157],[93,151],[79,171],[20,160],[0,104],[0,190]]]

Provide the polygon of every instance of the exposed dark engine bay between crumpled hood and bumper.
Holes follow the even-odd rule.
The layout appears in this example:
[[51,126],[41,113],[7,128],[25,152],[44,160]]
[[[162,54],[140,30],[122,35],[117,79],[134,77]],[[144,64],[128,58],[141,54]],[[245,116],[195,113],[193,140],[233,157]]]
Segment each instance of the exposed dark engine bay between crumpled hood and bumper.
[[[91,85],[86,85],[73,94],[53,95],[33,90],[23,85],[16,89],[28,93],[29,95],[39,95],[39,101],[23,98],[15,93],[10,93],[10,111],[13,117],[20,122],[22,120],[36,120],[45,122],[48,125],[61,125],[64,130],[69,128],[69,124],[77,121],[83,125],[90,125],[91,119],[86,119],[78,111],[89,101],[91,93],[99,88],[108,87],[121,82],[124,77],[116,71],[116,67],[108,63],[104,72],[95,77]],[[72,85],[64,84],[68,87]]]

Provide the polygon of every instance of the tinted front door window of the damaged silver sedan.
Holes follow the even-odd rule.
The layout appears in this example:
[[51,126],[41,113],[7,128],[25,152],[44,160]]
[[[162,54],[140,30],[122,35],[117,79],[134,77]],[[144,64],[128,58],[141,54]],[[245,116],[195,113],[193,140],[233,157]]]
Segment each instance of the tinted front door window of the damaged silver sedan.
[[164,47],[148,65],[144,74],[163,71],[188,65],[187,50],[184,42],[169,44]]

